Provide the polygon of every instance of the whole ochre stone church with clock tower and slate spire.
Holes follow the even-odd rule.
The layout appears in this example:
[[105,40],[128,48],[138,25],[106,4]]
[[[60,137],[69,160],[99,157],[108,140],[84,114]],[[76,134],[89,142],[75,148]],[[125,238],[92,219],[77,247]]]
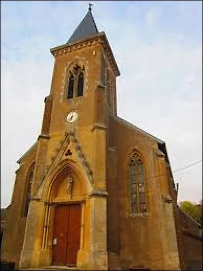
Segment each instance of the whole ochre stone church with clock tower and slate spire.
[[91,5],[51,54],[41,133],[17,161],[1,262],[16,270],[185,270],[165,143],[117,116],[120,71]]

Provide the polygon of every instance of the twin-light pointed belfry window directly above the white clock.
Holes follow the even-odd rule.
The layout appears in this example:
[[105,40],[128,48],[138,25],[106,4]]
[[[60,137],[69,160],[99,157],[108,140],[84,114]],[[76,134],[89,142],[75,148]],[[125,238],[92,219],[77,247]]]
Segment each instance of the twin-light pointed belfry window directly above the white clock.
[[76,64],[70,69],[68,77],[67,99],[81,97],[84,89],[84,66]]

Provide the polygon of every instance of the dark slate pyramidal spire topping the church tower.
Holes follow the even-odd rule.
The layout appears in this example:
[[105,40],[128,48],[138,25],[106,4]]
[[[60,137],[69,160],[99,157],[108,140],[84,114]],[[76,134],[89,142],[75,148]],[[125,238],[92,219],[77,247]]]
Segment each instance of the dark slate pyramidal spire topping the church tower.
[[93,15],[91,13],[91,6],[92,4],[89,3],[87,14],[82,19],[81,23],[78,25],[78,27],[74,31],[73,35],[71,36],[67,44],[83,40],[84,38],[87,38],[89,36],[98,33],[98,29],[96,27]]

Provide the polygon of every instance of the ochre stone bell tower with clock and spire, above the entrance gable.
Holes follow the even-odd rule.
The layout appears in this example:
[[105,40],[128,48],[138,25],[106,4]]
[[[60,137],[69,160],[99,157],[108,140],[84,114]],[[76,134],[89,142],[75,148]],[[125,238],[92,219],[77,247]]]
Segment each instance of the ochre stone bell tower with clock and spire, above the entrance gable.
[[[43,158],[44,166],[40,159],[39,173],[36,164],[35,184],[38,176],[45,175],[43,171],[51,164],[55,146],[65,132],[77,134],[87,159],[92,161],[92,171],[98,173],[96,161],[105,160],[106,155],[107,116],[117,115],[116,77],[120,71],[105,32],[98,32],[91,4],[69,41],[52,48],[51,53],[55,58],[51,91],[45,98],[38,140],[39,153],[42,155],[42,144],[47,158]],[[104,149],[102,155],[95,151],[97,144]]]

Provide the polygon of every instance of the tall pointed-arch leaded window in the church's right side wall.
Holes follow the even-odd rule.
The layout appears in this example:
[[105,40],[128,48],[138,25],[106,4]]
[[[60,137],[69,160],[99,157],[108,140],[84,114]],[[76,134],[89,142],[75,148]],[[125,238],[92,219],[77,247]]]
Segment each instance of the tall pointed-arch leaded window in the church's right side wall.
[[131,213],[146,213],[145,169],[143,161],[135,149],[130,153],[128,167]]

